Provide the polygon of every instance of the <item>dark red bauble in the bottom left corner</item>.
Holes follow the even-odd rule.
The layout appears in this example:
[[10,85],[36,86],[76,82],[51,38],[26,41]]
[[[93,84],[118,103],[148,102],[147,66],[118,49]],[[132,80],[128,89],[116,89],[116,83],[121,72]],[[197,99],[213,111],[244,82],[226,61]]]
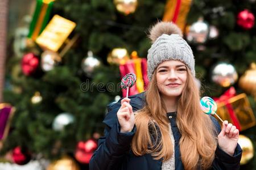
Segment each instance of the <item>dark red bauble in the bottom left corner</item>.
[[19,146],[15,147],[13,150],[13,161],[16,164],[24,165],[30,162],[31,155],[27,150],[22,150]]

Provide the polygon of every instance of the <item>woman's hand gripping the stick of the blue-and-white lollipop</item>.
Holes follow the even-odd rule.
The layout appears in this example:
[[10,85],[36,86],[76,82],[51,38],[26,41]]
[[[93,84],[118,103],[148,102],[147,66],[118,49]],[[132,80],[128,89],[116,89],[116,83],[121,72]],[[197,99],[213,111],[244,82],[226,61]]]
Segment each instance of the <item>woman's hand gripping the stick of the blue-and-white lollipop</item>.
[[239,138],[239,130],[236,126],[228,124],[228,121],[222,123],[222,129],[218,134],[218,145],[227,154],[233,156],[234,150],[237,147],[237,141]]

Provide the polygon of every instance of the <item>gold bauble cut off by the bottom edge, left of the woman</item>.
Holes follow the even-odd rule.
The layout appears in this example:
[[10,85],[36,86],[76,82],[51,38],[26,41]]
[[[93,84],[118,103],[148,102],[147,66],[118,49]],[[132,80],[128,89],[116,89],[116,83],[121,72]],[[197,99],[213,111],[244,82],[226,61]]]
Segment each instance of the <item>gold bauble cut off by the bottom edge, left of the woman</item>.
[[80,170],[80,168],[75,160],[69,158],[68,156],[63,156],[63,158],[49,164],[47,170]]

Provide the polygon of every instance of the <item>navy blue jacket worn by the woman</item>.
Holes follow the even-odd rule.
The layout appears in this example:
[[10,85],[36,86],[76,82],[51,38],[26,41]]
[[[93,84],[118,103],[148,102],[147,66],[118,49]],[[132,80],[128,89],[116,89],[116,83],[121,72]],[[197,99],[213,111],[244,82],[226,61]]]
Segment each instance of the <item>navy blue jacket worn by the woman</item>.
[[[129,96],[130,105],[133,107],[133,111],[141,109],[144,105],[144,92],[134,96]],[[123,170],[143,170],[143,169],[162,169],[162,160],[154,160],[150,154],[143,156],[135,156],[131,151],[130,143],[133,139],[136,127],[130,133],[120,133],[120,125],[117,119],[117,111],[121,107],[121,99],[112,105],[109,105],[109,113],[104,119],[106,128],[104,131],[104,137],[101,137],[98,141],[98,148],[94,152],[92,159],[90,160],[89,169],[123,169]],[[180,133],[176,125],[176,114],[167,113],[171,122],[172,132],[175,139],[175,169],[184,169],[180,158],[179,140]],[[212,116],[210,116],[212,117]],[[217,120],[212,117],[214,125],[216,125],[218,133],[221,128]],[[233,156],[226,154],[220,147],[217,146],[215,151],[215,158],[212,163],[212,169],[239,169],[240,160],[242,156],[242,150],[237,145],[236,151]]]

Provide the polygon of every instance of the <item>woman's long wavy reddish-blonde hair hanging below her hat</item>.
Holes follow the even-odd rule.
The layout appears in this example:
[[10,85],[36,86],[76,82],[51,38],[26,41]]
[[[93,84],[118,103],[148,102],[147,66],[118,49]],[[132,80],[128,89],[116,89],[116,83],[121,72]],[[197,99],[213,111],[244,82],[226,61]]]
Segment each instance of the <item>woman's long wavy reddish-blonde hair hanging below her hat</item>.
[[[196,169],[199,165],[202,169],[207,169],[214,159],[217,146],[216,130],[210,117],[200,109],[200,93],[191,71],[187,70],[187,81],[178,99],[176,118],[181,134],[179,142],[181,161],[185,169]],[[170,147],[172,141],[169,124],[166,107],[158,90],[155,71],[148,84],[145,105],[135,115],[137,131],[131,143],[134,154],[137,156],[151,154],[154,159],[163,158],[163,161],[170,159],[174,151]]]

